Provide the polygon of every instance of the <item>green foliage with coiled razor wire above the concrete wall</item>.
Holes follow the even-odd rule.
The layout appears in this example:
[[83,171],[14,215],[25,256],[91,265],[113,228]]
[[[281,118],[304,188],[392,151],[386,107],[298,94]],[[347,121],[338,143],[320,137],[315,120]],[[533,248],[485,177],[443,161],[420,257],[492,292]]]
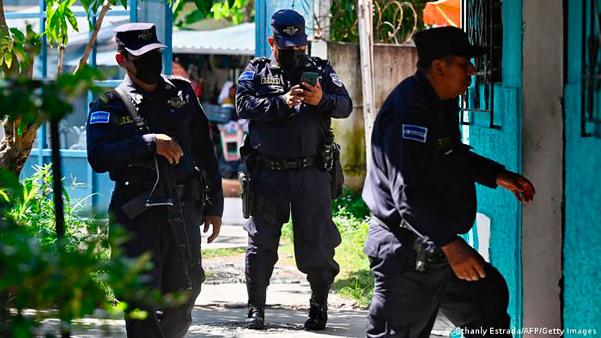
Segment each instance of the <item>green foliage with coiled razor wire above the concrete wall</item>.
[[[417,12],[417,30],[425,28],[423,11],[431,0],[390,1],[374,0],[374,42],[403,43],[413,31],[415,19],[407,3]],[[357,2],[355,0],[332,0],[330,39],[332,41],[359,41]],[[380,15],[380,13],[382,13]]]

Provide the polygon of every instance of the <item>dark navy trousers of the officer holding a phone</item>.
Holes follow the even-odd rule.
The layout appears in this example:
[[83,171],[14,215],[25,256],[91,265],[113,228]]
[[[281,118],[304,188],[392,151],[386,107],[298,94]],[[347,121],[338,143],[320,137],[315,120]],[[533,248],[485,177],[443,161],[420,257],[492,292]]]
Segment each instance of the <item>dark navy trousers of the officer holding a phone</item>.
[[340,272],[334,248],[340,232],[332,222],[331,175],[317,167],[261,170],[254,185],[257,203],[246,222],[246,283],[267,286],[278,261],[282,225],[292,214],[296,266],[316,286],[329,286]]

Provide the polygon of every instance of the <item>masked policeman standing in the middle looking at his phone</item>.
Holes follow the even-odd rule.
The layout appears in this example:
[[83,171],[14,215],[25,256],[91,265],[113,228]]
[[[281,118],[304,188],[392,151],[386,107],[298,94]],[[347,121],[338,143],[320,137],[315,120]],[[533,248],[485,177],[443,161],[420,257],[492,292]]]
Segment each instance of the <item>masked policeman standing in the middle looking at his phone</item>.
[[[323,330],[329,288],[340,271],[334,248],[341,239],[332,222],[331,174],[317,155],[331,118],[348,117],[352,102],[329,62],[306,55],[301,14],[280,10],[271,24],[272,57],[252,60],[236,93],[238,114],[250,120],[250,147],[258,164],[252,168],[255,208],[245,224],[246,326],[264,327],[266,287],[278,260],[281,227],[291,212],[296,265],[307,274],[312,291],[305,328]],[[319,76],[314,85],[301,81],[307,72]]]

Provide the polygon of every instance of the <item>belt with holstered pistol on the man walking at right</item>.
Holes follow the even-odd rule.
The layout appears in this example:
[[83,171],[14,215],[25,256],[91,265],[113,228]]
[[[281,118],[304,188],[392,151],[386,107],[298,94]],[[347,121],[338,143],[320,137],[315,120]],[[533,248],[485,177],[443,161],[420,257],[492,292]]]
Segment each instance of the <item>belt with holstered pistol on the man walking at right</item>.
[[407,221],[401,220],[400,224],[387,224],[374,215],[371,215],[371,222],[388,230],[389,232],[402,232],[406,235],[406,243],[411,245],[415,252],[415,270],[419,272],[426,271],[426,263],[442,263],[447,260],[447,256],[441,248],[425,235],[419,233]]

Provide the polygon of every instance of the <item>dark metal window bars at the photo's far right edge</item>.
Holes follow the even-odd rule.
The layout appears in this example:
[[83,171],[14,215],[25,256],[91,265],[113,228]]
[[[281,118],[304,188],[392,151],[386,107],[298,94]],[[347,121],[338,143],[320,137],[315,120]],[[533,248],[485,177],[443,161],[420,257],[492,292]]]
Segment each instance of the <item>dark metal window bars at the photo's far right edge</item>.
[[601,137],[601,116],[599,114],[601,12],[597,0],[585,0],[582,1],[582,4],[584,17],[582,18],[581,136]]

